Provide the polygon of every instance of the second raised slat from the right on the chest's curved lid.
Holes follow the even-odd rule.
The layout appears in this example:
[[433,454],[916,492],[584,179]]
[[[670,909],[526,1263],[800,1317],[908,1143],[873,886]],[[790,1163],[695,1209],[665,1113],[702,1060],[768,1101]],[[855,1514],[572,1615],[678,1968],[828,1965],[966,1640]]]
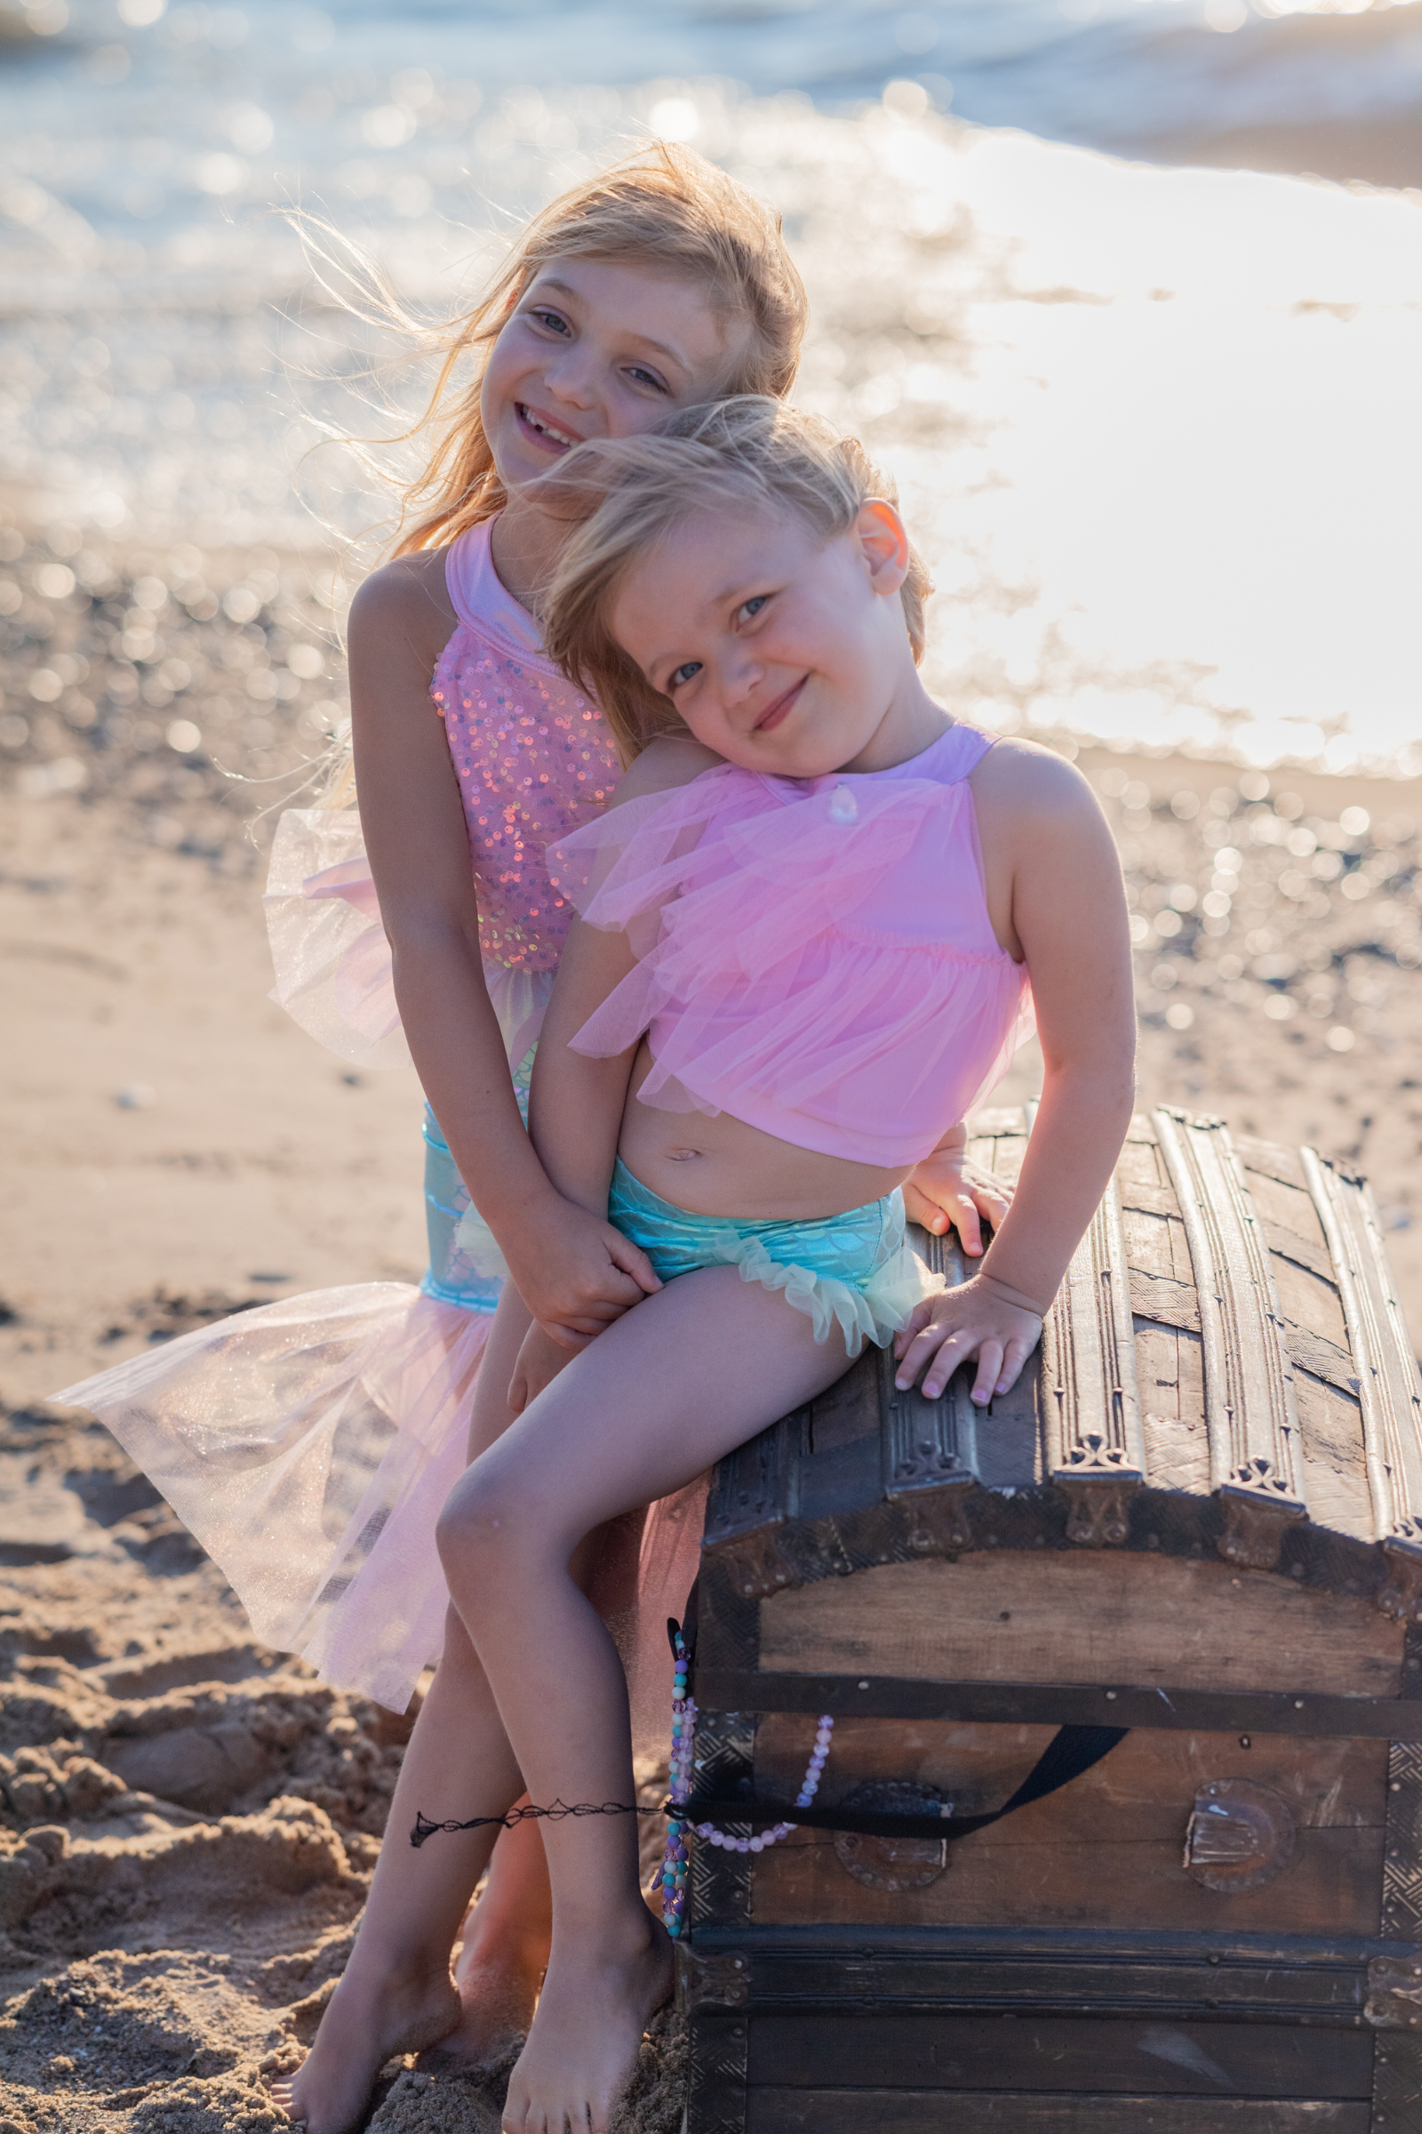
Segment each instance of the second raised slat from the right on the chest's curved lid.
[[1181,1206],[1205,1340],[1211,1483],[1226,1507],[1219,1554],[1273,1571],[1283,1532],[1307,1517],[1294,1379],[1269,1246],[1224,1122],[1156,1112]]

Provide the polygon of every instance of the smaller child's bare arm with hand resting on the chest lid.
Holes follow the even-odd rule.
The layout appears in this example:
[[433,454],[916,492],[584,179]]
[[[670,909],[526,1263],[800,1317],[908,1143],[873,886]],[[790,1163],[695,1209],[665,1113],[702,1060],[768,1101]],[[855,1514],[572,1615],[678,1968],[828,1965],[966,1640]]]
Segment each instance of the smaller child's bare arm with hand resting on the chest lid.
[[985,1402],[1017,1381],[1119,1157],[1136,1024],[1121,866],[1085,779],[1045,749],[1000,743],[972,783],[989,909],[1032,973],[1043,1101],[983,1265],[919,1306],[895,1353],[900,1383],[927,1366],[934,1396],[976,1355],[972,1398]]

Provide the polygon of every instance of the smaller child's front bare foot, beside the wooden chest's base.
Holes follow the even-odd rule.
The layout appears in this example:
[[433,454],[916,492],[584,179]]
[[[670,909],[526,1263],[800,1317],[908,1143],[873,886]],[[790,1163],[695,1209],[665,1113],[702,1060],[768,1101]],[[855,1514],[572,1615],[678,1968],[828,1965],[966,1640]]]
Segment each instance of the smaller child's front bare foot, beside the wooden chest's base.
[[672,1942],[648,1918],[646,1940],[620,1955],[556,1946],[529,2042],[510,2081],[503,2134],[578,2128],[608,2134],[637,2066],[642,2032],[672,1991]]

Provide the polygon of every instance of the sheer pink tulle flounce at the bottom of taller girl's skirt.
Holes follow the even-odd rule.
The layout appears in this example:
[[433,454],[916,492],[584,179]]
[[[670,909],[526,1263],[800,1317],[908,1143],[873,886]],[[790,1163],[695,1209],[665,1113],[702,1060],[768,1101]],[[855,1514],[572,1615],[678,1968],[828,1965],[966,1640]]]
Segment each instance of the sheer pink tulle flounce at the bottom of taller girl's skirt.
[[[53,1398],[113,1432],[262,1643],[403,1711],[443,1650],[435,1522],[467,1466],[490,1327],[407,1283],[356,1283],[196,1327]],[[650,1756],[669,1739],[665,1618],[697,1573],[704,1500],[701,1479],[652,1504],[635,1609],[612,1624]]]

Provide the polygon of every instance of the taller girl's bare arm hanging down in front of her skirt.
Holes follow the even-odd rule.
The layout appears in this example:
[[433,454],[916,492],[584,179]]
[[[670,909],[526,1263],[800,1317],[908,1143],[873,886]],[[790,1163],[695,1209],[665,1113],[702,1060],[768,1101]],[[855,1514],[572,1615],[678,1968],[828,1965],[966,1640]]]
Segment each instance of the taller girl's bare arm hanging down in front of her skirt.
[[484,984],[465,811],[429,698],[452,630],[437,553],[375,572],[350,612],[356,785],[394,994],[458,1174],[529,1310],[595,1334],[657,1278],[610,1223],[554,1189],[518,1116]]

